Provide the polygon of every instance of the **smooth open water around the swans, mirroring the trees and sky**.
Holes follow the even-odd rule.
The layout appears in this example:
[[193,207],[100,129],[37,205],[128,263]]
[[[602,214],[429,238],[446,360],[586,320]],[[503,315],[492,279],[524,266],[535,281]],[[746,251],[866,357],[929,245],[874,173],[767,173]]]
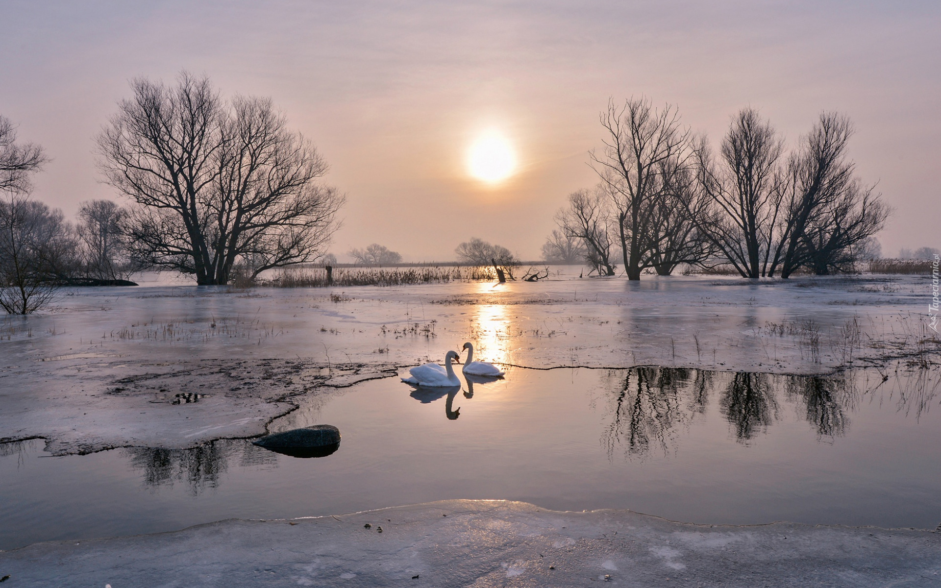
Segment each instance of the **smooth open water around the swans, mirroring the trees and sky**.
[[933,529],[939,392],[936,368],[903,367],[514,370],[438,392],[374,380],[273,423],[338,426],[340,448],[326,457],[237,439],[66,457],[40,439],[0,445],[0,548],[444,499]]

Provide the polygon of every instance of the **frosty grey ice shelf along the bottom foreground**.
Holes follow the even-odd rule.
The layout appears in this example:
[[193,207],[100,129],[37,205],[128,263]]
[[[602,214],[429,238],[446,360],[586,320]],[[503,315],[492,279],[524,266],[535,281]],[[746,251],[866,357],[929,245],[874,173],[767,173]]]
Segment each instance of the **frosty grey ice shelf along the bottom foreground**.
[[[369,528],[366,528],[366,525]],[[378,532],[381,527],[382,532]],[[0,552],[10,586],[934,586],[941,534],[443,501]]]

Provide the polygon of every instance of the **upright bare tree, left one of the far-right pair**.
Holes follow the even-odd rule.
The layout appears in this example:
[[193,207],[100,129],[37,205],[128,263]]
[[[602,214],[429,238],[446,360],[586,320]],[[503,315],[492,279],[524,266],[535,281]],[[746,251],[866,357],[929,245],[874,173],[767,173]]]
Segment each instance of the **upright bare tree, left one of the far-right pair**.
[[694,220],[743,278],[767,276],[781,242],[775,230],[783,199],[778,166],[783,151],[783,140],[754,108],[742,108],[732,120],[720,162],[712,160],[705,139],[694,150],[700,187],[712,204],[709,214]]

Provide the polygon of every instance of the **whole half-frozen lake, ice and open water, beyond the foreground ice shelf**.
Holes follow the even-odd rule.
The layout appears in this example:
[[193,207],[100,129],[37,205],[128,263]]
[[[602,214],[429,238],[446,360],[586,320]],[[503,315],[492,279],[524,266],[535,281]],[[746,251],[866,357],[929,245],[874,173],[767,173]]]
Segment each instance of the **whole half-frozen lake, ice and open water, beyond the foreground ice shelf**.
[[[0,322],[0,548],[445,499],[933,529],[929,287],[563,273],[64,291]],[[391,377],[465,341],[506,379],[413,394]],[[245,440],[317,423],[340,427],[336,453]]]

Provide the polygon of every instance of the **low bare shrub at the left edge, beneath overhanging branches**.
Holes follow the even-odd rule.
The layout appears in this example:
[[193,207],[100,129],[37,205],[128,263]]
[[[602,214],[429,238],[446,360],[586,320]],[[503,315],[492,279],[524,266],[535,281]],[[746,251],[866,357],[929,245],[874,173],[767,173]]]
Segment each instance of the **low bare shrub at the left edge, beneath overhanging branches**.
[[76,265],[72,227],[62,212],[23,194],[0,202],[0,307],[40,310]]

